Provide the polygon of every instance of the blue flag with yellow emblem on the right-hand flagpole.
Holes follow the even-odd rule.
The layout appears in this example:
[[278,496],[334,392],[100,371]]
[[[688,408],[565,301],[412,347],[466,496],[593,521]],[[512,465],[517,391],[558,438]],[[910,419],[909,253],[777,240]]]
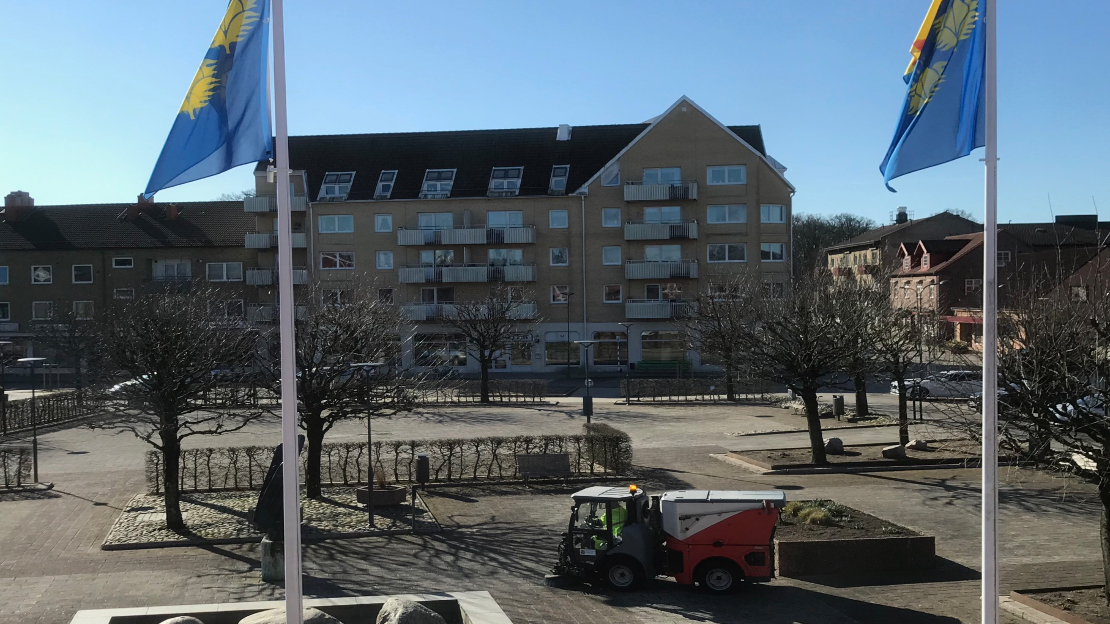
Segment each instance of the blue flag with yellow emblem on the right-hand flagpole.
[[917,62],[898,129],[879,165],[887,189],[899,175],[966,157],[986,143],[988,1],[934,0],[929,8],[925,38],[915,41]]

